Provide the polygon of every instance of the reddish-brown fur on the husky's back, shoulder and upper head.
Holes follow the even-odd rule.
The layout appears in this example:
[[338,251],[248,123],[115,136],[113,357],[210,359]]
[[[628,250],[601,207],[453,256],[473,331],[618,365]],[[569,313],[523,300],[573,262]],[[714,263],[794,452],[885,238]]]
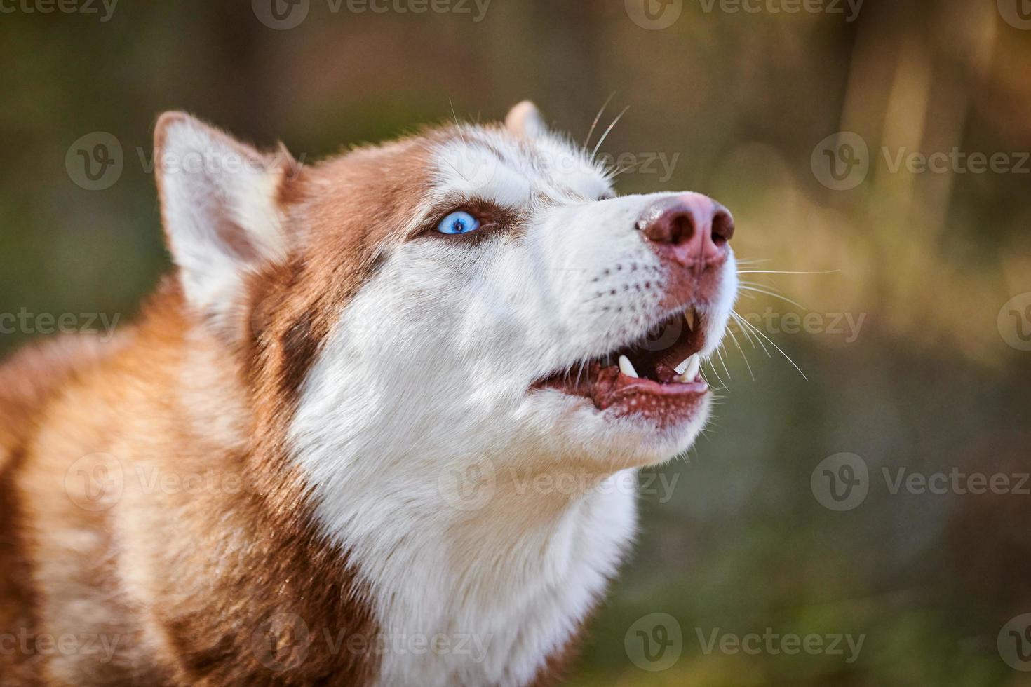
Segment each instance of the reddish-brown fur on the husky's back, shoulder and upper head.
[[[159,122],[159,161],[181,116]],[[0,684],[374,676],[374,655],[348,645],[376,632],[364,584],[317,531],[284,443],[331,322],[407,238],[390,228],[427,181],[423,140],[284,169],[290,260],[252,277],[228,336],[169,279],[107,347],[62,342],[0,368],[0,637],[35,638],[0,645]],[[78,648],[54,651],[44,634]],[[111,660],[84,646],[93,634],[117,642]]]

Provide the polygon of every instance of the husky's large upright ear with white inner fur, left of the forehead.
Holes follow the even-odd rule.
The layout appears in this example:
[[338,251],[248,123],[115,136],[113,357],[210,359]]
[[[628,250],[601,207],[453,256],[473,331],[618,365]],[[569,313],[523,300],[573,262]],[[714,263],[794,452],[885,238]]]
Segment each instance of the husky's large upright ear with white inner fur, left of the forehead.
[[262,154],[182,112],[155,130],[155,170],[172,260],[190,304],[225,331],[246,307],[244,284],[287,256],[279,205],[296,163]]

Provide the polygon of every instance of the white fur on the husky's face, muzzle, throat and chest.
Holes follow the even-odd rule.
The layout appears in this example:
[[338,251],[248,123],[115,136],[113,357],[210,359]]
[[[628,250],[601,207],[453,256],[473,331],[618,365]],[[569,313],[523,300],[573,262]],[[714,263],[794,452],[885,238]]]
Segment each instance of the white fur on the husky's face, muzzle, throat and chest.
[[[550,135],[469,129],[437,161],[413,225],[461,199],[525,219],[477,242],[417,237],[390,253],[340,313],[290,439],[384,632],[468,634],[484,647],[389,650],[380,684],[520,685],[614,574],[635,526],[626,478],[686,450],[708,402],[659,431],[531,389],[671,314],[664,268],[635,229],[671,194],[599,200],[610,194],[604,173]],[[722,269],[706,355],[736,290],[733,260]],[[595,488],[557,486],[563,477]]]

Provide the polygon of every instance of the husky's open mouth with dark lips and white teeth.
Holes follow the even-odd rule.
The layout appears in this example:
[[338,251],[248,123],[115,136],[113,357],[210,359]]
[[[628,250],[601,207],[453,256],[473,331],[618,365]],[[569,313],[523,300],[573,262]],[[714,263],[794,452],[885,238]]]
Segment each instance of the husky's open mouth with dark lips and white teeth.
[[708,390],[701,377],[704,314],[676,313],[633,344],[552,375],[537,386],[590,399],[598,410],[669,423],[691,414]]

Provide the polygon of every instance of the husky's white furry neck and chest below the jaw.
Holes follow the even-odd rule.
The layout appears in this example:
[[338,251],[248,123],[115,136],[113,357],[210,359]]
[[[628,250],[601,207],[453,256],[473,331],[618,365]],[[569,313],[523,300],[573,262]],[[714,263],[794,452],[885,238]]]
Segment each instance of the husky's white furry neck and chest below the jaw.
[[386,653],[378,684],[531,682],[575,642],[633,538],[626,477],[578,495],[499,480],[468,512],[385,499],[375,485],[351,492],[337,534],[380,631],[411,644],[444,638],[436,654]]

